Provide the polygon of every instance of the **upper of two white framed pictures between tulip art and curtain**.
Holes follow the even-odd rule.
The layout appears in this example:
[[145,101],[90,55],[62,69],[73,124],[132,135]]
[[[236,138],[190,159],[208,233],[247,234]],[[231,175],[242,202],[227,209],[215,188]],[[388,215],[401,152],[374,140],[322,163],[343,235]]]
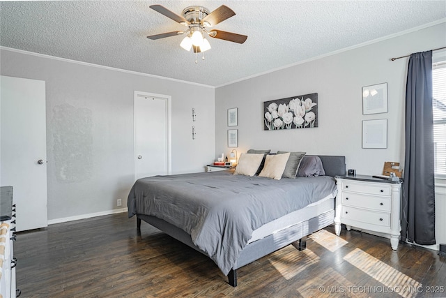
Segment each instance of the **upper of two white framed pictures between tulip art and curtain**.
[[362,114],[387,113],[387,83],[362,87]]

